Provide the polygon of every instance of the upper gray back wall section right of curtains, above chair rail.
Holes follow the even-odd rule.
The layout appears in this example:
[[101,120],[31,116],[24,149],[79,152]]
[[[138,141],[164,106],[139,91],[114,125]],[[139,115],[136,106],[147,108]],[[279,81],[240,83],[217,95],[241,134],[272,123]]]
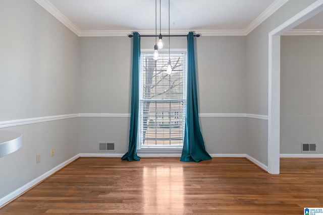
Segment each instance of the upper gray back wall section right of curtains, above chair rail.
[[196,41],[200,113],[246,113],[246,37]]

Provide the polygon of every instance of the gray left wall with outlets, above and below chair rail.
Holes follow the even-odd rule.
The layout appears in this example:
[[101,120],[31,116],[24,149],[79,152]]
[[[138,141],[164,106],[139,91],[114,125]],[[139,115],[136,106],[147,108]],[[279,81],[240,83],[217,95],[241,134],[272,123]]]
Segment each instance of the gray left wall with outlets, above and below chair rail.
[[[0,1],[0,26],[0,121],[77,113],[78,37],[31,0]],[[0,198],[75,156],[76,129],[76,118],[2,128],[23,147],[0,158]]]

